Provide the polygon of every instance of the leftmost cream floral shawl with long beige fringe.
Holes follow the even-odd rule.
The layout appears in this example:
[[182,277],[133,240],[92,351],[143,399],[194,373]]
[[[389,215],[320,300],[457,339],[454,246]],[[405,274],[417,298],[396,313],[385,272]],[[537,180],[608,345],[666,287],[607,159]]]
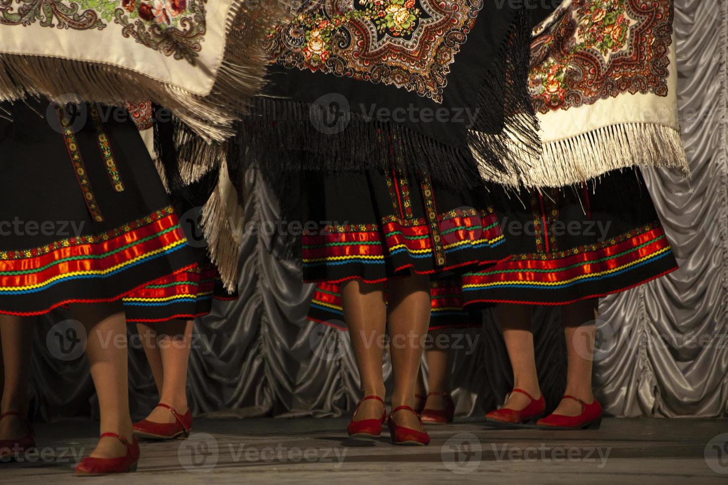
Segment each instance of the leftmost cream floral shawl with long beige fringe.
[[263,85],[260,41],[282,18],[243,0],[0,0],[0,100],[151,100],[224,140]]

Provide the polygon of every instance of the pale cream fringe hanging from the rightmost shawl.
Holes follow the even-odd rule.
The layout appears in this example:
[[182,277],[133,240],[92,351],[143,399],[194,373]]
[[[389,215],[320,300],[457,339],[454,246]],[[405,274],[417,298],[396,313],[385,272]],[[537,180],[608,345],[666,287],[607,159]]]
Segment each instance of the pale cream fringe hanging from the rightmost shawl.
[[[520,160],[514,161],[517,166],[520,163]],[[678,169],[689,178],[680,132],[662,124],[612,124],[544,143],[537,164],[521,165],[509,177],[491,175],[486,170],[481,172],[491,182],[539,188],[574,185],[628,167]]]

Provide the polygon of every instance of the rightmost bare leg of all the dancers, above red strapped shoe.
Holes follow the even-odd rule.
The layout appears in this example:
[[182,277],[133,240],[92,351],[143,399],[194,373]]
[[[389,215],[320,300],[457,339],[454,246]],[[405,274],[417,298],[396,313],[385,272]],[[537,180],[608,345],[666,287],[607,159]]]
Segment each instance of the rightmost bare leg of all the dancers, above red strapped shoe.
[[[566,336],[566,390],[564,394],[581,399],[585,403],[594,401],[592,393],[592,361],[596,310],[599,300],[585,300],[561,308],[561,321]],[[554,410],[555,414],[578,416],[582,406],[573,399],[563,399]]]

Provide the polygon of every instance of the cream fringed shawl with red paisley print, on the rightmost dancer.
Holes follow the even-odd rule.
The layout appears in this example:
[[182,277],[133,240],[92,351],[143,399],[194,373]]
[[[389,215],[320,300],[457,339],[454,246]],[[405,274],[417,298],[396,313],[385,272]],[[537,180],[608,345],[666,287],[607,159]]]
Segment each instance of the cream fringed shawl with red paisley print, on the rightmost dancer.
[[510,180],[558,187],[631,166],[687,175],[676,72],[673,0],[564,0],[531,44],[542,156]]

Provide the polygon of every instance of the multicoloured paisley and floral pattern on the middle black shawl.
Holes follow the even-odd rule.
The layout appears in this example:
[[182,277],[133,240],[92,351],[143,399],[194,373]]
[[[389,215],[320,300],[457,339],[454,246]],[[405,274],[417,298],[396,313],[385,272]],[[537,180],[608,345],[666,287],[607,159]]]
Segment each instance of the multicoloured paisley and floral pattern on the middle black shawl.
[[286,68],[347,76],[443,98],[449,65],[482,0],[324,0],[269,36]]

